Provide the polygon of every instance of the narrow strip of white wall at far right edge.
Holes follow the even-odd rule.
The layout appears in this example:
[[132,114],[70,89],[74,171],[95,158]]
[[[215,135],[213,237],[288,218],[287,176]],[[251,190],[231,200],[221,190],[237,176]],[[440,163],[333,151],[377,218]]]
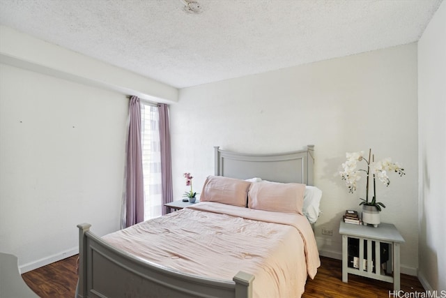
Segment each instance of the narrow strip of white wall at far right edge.
[[420,281],[446,291],[446,3],[418,42]]

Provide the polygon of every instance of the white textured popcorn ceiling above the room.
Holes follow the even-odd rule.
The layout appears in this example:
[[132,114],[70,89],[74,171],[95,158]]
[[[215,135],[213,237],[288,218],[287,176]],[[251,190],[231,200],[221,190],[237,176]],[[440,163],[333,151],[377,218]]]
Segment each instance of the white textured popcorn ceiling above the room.
[[183,88],[412,43],[441,1],[0,0],[0,24]]

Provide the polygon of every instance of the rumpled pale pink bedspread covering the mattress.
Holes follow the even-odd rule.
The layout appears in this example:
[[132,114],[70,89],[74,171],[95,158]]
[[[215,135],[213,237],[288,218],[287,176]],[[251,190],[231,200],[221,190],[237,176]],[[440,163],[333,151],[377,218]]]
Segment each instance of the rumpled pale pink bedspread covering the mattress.
[[170,269],[232,281],[254,274],[254,297],[300,297],[320,266],[307,218],[201,202],[104,237]]

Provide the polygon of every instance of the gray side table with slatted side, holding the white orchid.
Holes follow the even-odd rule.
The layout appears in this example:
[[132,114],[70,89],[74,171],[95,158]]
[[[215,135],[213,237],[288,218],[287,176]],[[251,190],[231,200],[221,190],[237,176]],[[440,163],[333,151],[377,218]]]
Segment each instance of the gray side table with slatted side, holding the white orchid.
[[[339,234],[342,234],[342,281],[347,283],[348,274],[375,278],[379,281],[393,283],[394,290],[400,288],[400,262],[399,262],[399,244],[404,242],[397,228],[391,223],[380,223],[378,228],[367,225],[353,225],[341,221],[339,225]],[[348,267],[348,239],[359,239],[359,262],[358,268]],[[367,262],[364,258],[364,243],[367,250]],[[374,244],[373,244],[374,243]],[[393,269],[393,276],[386,275],[381,271],[380,244],[389,244],[389,262]],[[374,248],[372,248],[374,247]],[[372,253],[374,251],[374,253]],[[372,260],[372,255],[375,259]],[[365,266],[364,266],[365,265]],[[376,270],[374,270],[374,267]],[[389,268],[387,267],[387,271]]]

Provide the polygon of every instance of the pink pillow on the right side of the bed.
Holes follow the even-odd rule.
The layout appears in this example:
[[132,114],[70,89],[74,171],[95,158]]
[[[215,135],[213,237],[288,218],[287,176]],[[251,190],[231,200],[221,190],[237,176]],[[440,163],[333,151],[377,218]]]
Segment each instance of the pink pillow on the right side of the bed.
[[251,184],[248,207],[303,215],[304,193],[305,184],[261,181]]

